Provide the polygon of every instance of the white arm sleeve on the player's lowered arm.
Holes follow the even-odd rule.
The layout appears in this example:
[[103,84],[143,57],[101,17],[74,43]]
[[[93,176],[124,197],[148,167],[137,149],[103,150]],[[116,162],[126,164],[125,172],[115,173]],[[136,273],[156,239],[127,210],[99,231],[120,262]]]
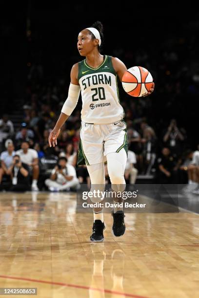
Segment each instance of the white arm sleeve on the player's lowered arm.
[[80,86],[70,83],[70,86],[68,89],[68,97],[63,104],[61,112],[70,116],[73,110],[75,109],[75,107],[77,106],[79,96],[80,96]]

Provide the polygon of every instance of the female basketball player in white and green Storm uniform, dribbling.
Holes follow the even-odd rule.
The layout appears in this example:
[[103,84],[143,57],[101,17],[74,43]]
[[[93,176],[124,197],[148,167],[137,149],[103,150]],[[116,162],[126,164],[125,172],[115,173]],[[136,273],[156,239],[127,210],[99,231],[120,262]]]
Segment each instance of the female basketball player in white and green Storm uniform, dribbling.
[[[104,161],[111,180],[112,189],[124,190],[124,169],[127,159],[126,125],[124,111],[119,103],[117,76],[121,81],[127,70],[118,58],[101,55],[103,27],[97,21],[78,36],[80,56],[86,59],[73,65],[71,83],[60,117],[49,135],[49,146],[57,145],[60,128],[75,109],[81,91],[81,129],[78,165],[86,164],[91,185],[105,185]],[[148,94],[154,91],[150,89]],[[147,94],[147,95],[148,95]],[[122,187],[120,187],[122,186]],[[117,189],[116,189],[117,188]],[[117,200],[117,203],[122,200]],[[125,232],[124,213],[120,205],[114,207],[112,232],[121,236]],[[93,242],[103,241],[103,209],[94,208]]]

